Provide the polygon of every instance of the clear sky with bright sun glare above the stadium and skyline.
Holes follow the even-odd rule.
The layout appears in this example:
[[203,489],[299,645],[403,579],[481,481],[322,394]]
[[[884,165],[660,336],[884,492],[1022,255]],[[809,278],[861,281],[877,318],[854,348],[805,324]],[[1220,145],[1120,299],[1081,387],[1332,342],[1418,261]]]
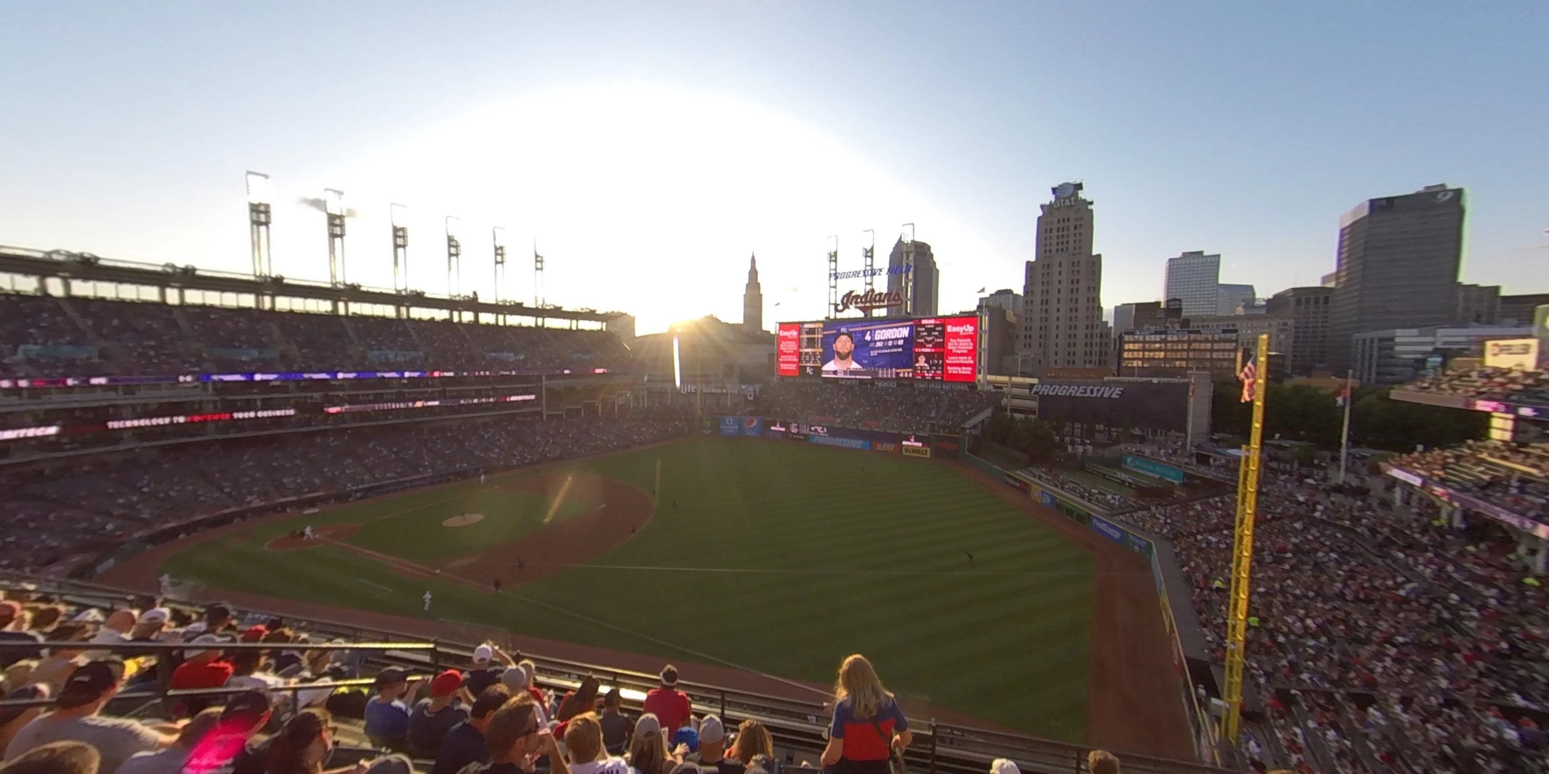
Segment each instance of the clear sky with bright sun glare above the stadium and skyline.
[[[1431,183],[1470,195],[1464,280],[1549,291],[1549,3],[6,3],[0,243],[246,269],[242,173],[274,176],[276,268],[325,277],[344,189],[352,277],[623,308],[641,330],[821,314],[905,221],[943,308],[1021,288],[1049,187],[1097,203],[1103,303],[1221,252],[1259,294],[1334,266],[1338,217]],[[440,266],[440,268],[438,268]],[[773,307],[781,302],[781,307]]]

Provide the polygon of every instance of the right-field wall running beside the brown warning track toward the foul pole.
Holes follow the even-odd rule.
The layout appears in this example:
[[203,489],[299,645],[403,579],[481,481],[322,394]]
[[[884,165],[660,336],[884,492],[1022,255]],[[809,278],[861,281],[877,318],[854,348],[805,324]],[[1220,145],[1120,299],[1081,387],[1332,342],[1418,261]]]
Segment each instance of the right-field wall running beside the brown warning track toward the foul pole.
[[[1205,636],[1199,628],[1199,616],[1194,613],[1194,605],[1190,599],[1188,579],[1177,570],[1173,545],[1134,526],[1104,519],[1092,512],[1078,498],[1060,492],[1046,483],[1035,481],[1018,471],[1007,471],[970,452],[963,452],[962,460],[984,471],[985,475],[1005,481],[1007,486],[1027,494],[1044,508],[1128,548],[1151,568],[1157,607],[1162,611],[1162,625],[1166,628],[1168,641],[1173,646],[1173,666],[1177,669],[1179,681],[1182,683],[1180,694],[1194,738],[1194,752],[1199,755],[1199,760],[1219,763],[1214,721],[1205,712],[1205,707],[1199,706],[1199,697],[1194,692],[1194,684],[1202,684],[1207,678],[1211,683],[1214,681],[1210,676],[1210,652],[1205,646]],[[1177,608],[1173,605],[1174,599],[1179,601]]]

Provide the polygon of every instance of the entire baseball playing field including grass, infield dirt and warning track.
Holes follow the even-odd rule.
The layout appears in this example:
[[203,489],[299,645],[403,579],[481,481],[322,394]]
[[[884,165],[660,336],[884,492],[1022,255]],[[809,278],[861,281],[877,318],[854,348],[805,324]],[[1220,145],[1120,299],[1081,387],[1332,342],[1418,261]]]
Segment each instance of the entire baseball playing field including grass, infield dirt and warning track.
[[1191,755],[1149,570],[965,463],[697,437],[198,533],[104,580],[163,573],[804,690],[861,652],[914,717]]

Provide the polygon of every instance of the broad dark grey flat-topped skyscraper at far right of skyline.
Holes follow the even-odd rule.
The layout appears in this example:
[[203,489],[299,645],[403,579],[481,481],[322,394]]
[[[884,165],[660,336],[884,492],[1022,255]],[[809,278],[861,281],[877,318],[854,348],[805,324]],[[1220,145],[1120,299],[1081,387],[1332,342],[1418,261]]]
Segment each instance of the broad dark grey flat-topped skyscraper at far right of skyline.
[[1340,218],[1329,361],[1343,373],[1357,333],[1451,325],[1458,317],[1464,192],[1427,186],[1360,203]]

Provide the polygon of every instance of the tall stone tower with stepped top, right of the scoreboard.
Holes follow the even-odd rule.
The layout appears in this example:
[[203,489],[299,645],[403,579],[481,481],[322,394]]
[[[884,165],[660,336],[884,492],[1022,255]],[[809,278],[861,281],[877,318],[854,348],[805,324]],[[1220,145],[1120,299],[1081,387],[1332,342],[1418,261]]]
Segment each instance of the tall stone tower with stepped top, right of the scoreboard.
[[1052,367],[1108,365],[1111,342],[1100,305],[1103,257],[1092,254],[1092,203],[1081,197],[1081,187],[1080,183],[1053,187],[1053,201],[1042,204],[1042,215],[1038,215],[1018,342],[1018,353],[1029,359],[1033,376]]

